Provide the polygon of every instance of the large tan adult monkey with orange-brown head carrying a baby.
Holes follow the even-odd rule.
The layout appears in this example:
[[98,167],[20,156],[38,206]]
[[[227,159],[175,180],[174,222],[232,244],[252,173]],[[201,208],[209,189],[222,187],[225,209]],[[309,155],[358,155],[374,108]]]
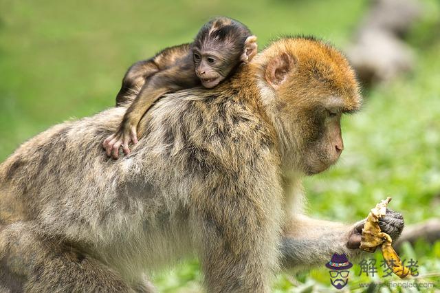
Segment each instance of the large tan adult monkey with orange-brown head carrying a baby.
[[[145,270],[196,252],[208,292],[270,292],[281,259],[355,257],[362,222],[286,210],[298,210],[303,175],[338,160],[341,115],[359,107],[340,52],[298,37],[215,89],[159,100],[122,160],[100,141],[123,108],[52,127],[0,166],[3,290],[145,292]],[[390,213],[382,227],[395,238],[403,220]]]

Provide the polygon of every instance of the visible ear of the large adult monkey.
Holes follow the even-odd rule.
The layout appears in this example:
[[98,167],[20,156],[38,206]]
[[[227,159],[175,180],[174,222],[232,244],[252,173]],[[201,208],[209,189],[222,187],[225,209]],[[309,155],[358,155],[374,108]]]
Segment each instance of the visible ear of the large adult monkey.
[[295,61],[289,54],[282,53],[270,59],[265,69],[265,80],[277,89],[287,79],[289,72],[294,69]]

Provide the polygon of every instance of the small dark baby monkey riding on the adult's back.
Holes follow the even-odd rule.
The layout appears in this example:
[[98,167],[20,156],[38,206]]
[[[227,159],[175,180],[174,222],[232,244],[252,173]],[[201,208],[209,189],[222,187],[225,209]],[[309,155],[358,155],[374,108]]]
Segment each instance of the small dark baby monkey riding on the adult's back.
[[256,36],[243,23],[220,17],[203,25],[193,43],[169,47],[132,65],[122,80],[116,105],[122,105],[131,92],[141,89],[118,130],[102,143],[107,155],[118,159],[120,146],[124,153],[130,153],[129,143],[137,143],[137,124],[158,98],[198,85],[215,87],[256,52]]

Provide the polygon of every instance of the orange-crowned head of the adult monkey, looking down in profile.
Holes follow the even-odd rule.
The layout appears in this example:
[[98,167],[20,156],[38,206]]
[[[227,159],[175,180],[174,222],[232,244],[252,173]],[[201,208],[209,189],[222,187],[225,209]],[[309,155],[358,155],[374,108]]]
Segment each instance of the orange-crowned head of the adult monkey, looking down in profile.
[[325,171],[344,149],[342,114],[358,110],[362,102],[347,59],[327,43],[296,37],[275,41],[254,64],[286,171]]

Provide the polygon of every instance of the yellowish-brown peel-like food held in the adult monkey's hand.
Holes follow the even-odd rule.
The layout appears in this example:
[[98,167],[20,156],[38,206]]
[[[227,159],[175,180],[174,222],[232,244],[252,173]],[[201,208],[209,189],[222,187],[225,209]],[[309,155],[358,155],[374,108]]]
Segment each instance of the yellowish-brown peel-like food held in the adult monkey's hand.
[[382,255],[386,265],[403,279],[410,274],[410,270],[402,265],[399,256],[393,246],[391,246],[392,239],[390,235],[381,232],[378,223],[379,219],[385,216],[386,206],[390,201],[391,197],[387,197],[379,204],[376,204],[375,208],[371,209],[369,216],[366,218],[364,228],[362,228],[360,249],[366,252],[375,252],[376,248],[382,245]]

